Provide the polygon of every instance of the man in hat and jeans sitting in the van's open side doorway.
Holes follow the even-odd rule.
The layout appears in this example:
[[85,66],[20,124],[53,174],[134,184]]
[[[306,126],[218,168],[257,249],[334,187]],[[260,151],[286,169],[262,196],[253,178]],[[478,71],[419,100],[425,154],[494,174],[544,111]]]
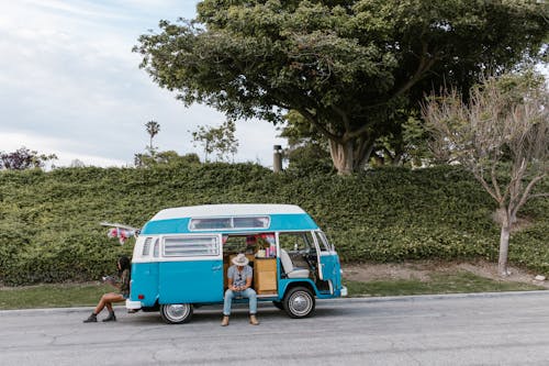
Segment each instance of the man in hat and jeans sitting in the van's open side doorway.
[[228,317],[231,315],[231,304],[233,298],[245,297],[249,299],[249,323],[258,325],[259,321],[256,318],[257,313],[257,293],[251,288],[251,278],[254,271],[248,266],[248,258],[244,254],[238,254],[233,258],[233,265],[227,269],[228,288],[225,291],[225,299],[223,304],[223,320],[222,326],[228,325]]

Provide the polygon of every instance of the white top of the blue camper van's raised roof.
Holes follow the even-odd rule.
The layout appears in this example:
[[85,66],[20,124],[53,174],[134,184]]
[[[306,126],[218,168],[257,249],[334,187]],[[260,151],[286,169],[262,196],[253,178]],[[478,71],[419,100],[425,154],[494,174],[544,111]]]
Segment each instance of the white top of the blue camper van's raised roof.
[[233,215],[256,215],[256,214],[294,214],[306,213],[295,204],[272,204],[272,203],[231,203],[231,204],[202,204],[187,206],[165,209],[150,219],[170,220],[181,218],[208,218],[208,217],[233,217]]

